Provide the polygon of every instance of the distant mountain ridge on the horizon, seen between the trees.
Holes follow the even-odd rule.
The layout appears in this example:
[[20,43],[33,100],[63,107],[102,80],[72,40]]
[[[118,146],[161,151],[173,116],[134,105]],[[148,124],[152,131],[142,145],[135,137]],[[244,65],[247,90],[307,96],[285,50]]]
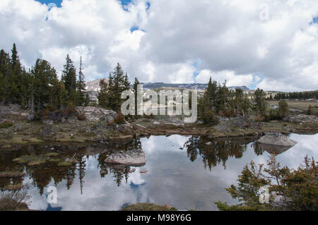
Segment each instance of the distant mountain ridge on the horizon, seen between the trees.
[[[107,78],[103,78],[106,82],[108,82]],[[93,80],[86,82],[86,91],[93,91],[97,92],[100,90],[100,80]],[[182,89],[195,89],[195,90],[204,90],[208,87],[208,84],[200,84],[200,83],[193,83],[193,84],[170,84],[170,83],[141,83],[143,85],[143,89],[155,89],[160,87],[170,87],[170,88],[182,88]],[[229,89],[235,90],[242,89],[243,91],[248,91],[249,88],[247,86],[232,86],[228,87]]]

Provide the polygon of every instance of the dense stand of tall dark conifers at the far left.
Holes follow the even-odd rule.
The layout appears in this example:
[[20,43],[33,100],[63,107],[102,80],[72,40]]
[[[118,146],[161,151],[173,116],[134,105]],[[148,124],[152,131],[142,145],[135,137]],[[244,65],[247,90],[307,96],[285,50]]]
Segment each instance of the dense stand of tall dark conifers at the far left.
[[48,108],[88,105],[85,90],[82,59],[76,73],[73,61],[67,55],[59,80],[55,68],[44,59],[37,59],[27,71],[20,63],[16,44],[13,44],[11,54],[4,49],[0,51],[1,104],[19,104],[23,109],[31,109],[34,118],[40,118],[42,111]]

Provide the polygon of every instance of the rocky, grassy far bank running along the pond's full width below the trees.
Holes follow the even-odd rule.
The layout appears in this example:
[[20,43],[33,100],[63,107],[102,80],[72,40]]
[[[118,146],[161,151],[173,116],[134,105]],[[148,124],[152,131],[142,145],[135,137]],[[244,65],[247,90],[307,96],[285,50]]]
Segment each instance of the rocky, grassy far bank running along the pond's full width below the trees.
[[[201,123],[182,123],[174,121],[155,121],[139,118],[114,123],[114,111],[98,107],[77,107],[86,119],[76,116],[54,121],[29,121],[28,111],[11,105],[0,107],[0,146],[25,145],[38,142],[122,142],[150,135],[196,135],[207,138],[237,138],[263,136],[266,133],[318,133],[317,116],[300,114],[290,116],[285,121],[268,123],[255,122],[246,117],[220,118],[217,126],[204,126]],[[7,124],[6,126],[2,126]]]

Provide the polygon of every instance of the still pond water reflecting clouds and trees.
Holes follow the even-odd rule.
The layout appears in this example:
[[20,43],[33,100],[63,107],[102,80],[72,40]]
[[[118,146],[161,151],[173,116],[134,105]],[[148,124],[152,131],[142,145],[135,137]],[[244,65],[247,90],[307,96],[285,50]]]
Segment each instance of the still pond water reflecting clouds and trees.
[[[317,135],[290,135],[297,145],[281,154],[281,165],[297,168],[306,155],[318,158]],[[212,141],[212,146],[204,143]],[[204,140],[180,135],[151,136],[121,145],[35,145],[0,153],[0,171],[20,170],[23,178],[0,178],[0,188],[8,183],[30,183],[30,209],[119,210],[136,202],[172,205],[177,209],[217,210],[218,200],[237,203],[225,188],[237,183],[243,166],[254,160],[266,164],[269,152],[253,144],[253,139]],[[78,164],[66,168],[47,162],[39,166],[12,163],[25,155],[62,152],[61,159],[74,157]],[[132,168],[105,164],[107,154],[116,150],[142,148],[145,166]],[[184,148],[181,150],[180,148]],[[75,154],[76,153],[76,154]],[[75,156],[74,156],[75,154]],[[146,169],[146,174],[139,171]],[[47,203],[47,188],[57,187],[57,204]]]

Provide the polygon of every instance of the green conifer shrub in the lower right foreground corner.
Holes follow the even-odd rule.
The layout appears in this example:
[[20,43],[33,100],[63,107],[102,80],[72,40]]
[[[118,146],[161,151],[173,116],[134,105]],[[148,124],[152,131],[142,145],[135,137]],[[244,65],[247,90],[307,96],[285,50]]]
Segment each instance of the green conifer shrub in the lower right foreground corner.
[[[268,168],[262,164],[256,166],[250,162],[238,176],[237,186],[226,188],[233,198],[242,202],[240,205],[227,205],[226,202],[215,202],[218,209],[229,210],[288,210],[317,211],[318,210],[318,162],[305,157],[305,164],[298,169],[290,170],[287,166],[281,168],[275,155],[267,162]],[[269,202],[260,202],[259,190],[269,188]],[[281,200],[274,201],[275,195]]]

